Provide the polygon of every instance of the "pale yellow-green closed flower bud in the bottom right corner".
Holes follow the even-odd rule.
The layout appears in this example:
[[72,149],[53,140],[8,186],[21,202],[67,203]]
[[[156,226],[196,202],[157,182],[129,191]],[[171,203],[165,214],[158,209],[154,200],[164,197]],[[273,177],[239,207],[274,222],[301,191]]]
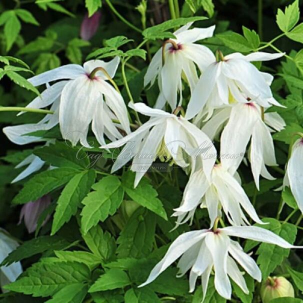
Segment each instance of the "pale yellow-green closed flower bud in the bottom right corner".
[[278,297],[294,297],[291,283],[283,276],[268,277],[261,285],[261,298],[263,303]]

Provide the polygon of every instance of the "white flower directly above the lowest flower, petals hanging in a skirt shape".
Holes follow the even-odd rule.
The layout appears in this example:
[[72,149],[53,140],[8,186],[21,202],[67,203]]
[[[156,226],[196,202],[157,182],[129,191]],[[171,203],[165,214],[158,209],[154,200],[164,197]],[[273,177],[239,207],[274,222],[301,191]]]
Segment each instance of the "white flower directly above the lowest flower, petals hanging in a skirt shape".
[[221,208],[232,225],[249,224],[241,206],[255,222],[262,223],[239,182],[221,164],[213,166],[210,180],[202,169],[190,175],[181,205],[172,214],[177,216],[176,224],[192,219],[199,204],[208,210],[210,227],[221,215]]

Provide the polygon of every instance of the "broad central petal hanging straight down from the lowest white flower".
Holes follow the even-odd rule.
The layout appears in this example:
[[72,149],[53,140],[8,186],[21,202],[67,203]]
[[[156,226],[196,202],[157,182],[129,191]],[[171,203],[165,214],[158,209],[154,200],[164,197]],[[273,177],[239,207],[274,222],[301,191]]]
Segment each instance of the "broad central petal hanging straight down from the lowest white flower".
[[223,234],[208,233],[205,236],[205,243],[212,255],[214,269],[214,286],[222,297],[230,299],[231,284],[227,276],[227,249],[229,238]]

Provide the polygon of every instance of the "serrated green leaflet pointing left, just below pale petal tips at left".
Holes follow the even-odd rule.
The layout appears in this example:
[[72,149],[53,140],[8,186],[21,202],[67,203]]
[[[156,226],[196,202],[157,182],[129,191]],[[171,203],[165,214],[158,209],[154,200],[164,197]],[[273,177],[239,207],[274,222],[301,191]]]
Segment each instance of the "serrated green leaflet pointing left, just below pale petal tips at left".
[[77,169],[71,167],[62,167],[35,174],[24,184],[12,202],[15,204],[23,204],[34,201],[44,194],[64,185],[78,172]]

